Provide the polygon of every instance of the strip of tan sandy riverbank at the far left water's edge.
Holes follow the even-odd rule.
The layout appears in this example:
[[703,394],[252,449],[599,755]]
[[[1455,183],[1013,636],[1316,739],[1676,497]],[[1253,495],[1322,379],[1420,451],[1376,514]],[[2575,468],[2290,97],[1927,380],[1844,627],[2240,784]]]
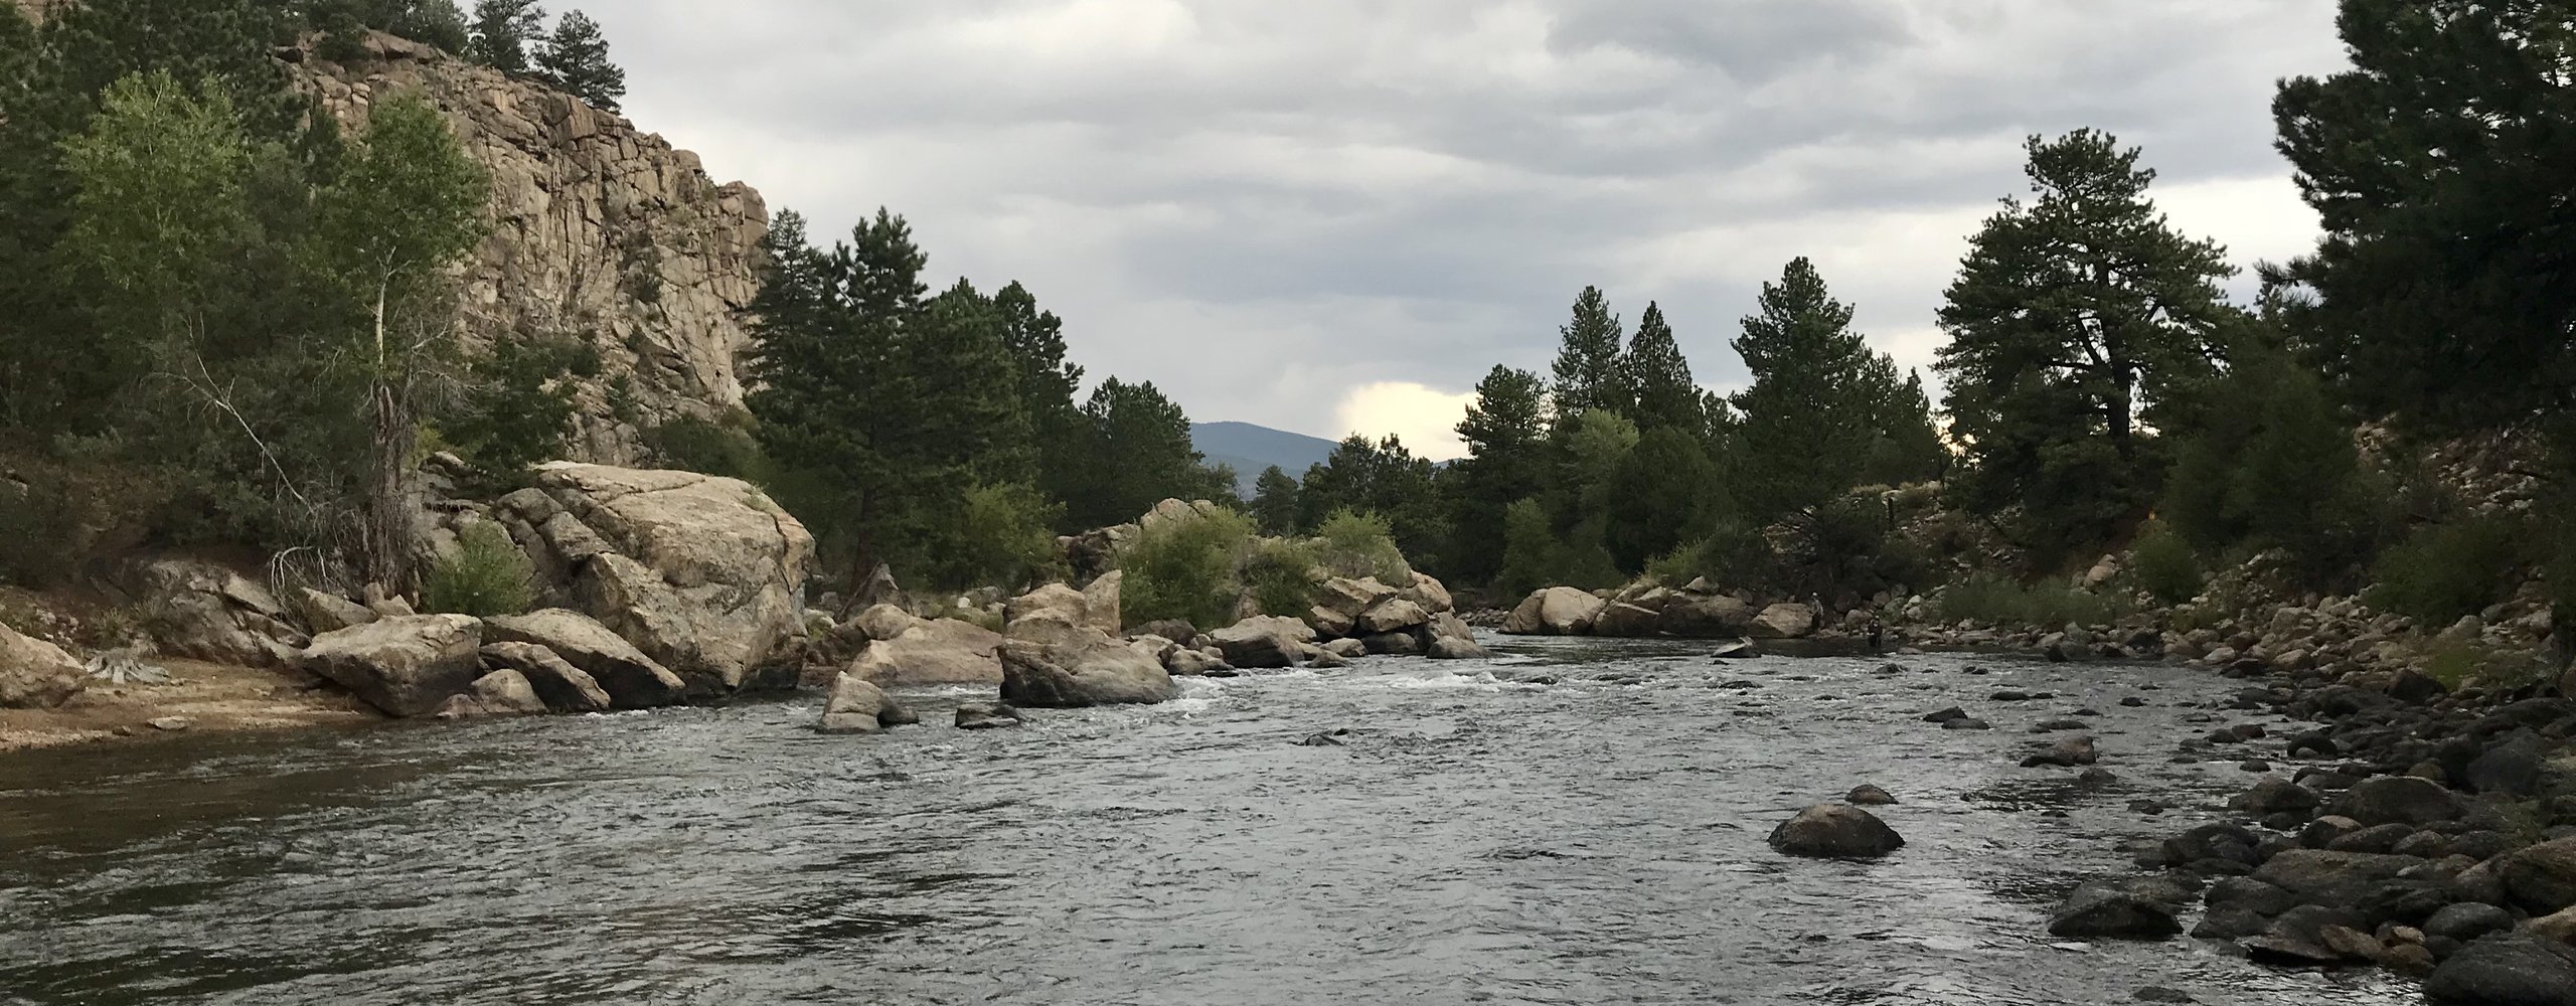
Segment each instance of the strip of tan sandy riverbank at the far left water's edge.
[[183,659],[152,664],[170,672],[170,684],[93,684],[62,708],[0,710],[0,751],[384,720],[312,677]]

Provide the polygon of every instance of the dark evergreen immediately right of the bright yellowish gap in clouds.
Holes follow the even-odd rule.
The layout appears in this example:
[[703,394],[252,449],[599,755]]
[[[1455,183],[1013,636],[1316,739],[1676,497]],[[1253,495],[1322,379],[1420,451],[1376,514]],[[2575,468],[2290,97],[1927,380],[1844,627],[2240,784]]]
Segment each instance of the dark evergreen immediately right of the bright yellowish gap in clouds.
[[1504,509],[1538,497],[1548,476],[1548,383],[1497,365],[1476,381],[1458,422],[1466,458],[1453,466],[1448,574],[1484,584],[1502,574]]

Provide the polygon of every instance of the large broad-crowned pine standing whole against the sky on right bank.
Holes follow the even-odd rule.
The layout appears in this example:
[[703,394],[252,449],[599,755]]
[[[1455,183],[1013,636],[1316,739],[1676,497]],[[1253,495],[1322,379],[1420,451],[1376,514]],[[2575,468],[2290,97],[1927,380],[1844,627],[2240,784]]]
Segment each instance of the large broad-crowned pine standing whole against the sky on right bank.
[[2035,198],[1973,237],[1935,370],[1968,445],[1965,502],[2020,504],[2025,543],[2061,556],[2154,499],[2161,458],[2138,427],[2187,422],[2164,407],[2213,373],[2239,311],[2221,247],[2166,224],[2138,149],[2089,129],[2027,149]]

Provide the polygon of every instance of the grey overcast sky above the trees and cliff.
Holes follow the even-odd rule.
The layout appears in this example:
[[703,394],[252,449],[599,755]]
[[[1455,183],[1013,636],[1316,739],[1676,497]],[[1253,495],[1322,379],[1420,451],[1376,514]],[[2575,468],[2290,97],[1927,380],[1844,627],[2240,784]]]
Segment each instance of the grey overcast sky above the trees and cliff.
[[[559,10],[559,8],[556,8]],[[1023,280],[1092,381],[1193,419],[1448,427],[1546,370],[1574,293],[1662,301],[1700,383],[1808,255],[1927,365],[2025,134],[2146,147],[2241,265],[2313,216],[2282,75],[2342,67],[2334,0],[585,0],[626,113],[817,237],[904,214],[943,286]]]

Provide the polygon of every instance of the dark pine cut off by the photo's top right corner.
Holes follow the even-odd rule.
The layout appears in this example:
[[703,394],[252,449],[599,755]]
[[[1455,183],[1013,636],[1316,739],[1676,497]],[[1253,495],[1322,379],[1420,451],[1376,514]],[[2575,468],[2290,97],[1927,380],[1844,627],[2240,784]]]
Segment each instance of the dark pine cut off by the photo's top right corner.
[[2352,69],[2293,77],[2280,152],[2324,219],[2275,273],[2344,394],[2432,435],[2543,419],[2576,445],[2576,13],[2344,0]]

